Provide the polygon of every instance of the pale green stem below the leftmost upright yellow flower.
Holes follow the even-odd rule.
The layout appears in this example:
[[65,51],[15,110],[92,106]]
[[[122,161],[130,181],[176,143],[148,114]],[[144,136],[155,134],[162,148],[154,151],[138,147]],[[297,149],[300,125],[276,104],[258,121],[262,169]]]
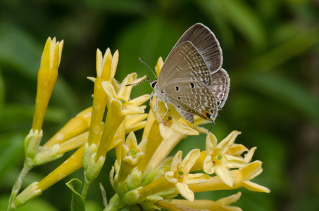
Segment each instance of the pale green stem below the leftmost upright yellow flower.
[[18,196],[18,193],[19,193],[20,188],[22,186],[23,179],[25,179],[25,175],[27,175],[27,172],[32,170],[32,166],[28,165],[27,163],[28,163],[27,160],[25,160],[25,163],[23,164],[23,169],[21,170],[17,181],[15,181],[15,184],[13,185],[7,210],[15,210],[16,209],[16,207],[14,205],[14,200]]

